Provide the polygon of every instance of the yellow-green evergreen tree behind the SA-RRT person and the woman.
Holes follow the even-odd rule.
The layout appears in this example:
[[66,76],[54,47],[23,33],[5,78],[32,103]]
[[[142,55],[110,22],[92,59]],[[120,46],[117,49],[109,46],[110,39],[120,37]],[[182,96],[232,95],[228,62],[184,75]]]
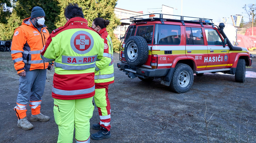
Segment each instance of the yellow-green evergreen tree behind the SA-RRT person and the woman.
[[83,9],[89,27],[91,27],[93,19],[97,17],[102,17],[110,21],[107,31],[112,39],[114,51],[119,50],[120,42],[113,33],[115,27],[120,24],[120,19],[117,19],[114,13],[117,0],[58,0],[58,2],[61,10],[60,15],[57,17],[58,22],[55,24],[56,27],[61,27],[67,22],[64,16],[64,8],[69,3],[77,3]]

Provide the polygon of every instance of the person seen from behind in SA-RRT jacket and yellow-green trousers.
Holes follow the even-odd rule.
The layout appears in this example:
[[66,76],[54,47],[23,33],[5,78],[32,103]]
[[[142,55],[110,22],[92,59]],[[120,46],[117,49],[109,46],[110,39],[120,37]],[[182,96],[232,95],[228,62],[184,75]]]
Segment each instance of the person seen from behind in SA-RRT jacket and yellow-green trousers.
[[103,57],[104,40],[88,27],[78,4],[68,4],[64,15],[67,23],[53,30],[41,50],[43,60],[55,61],[52,97],[57,143],[72,143],[74,128],[76,143],[89,143],[95,62]]

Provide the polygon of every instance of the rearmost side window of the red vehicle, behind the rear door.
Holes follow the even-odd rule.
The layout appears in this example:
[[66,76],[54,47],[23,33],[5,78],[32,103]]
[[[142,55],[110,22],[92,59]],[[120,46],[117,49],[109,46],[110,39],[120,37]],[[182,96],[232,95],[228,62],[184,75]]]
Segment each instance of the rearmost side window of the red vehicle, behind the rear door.
[[179,45],[180,26],[179,25],[156,25],[154,44],[158,45]]

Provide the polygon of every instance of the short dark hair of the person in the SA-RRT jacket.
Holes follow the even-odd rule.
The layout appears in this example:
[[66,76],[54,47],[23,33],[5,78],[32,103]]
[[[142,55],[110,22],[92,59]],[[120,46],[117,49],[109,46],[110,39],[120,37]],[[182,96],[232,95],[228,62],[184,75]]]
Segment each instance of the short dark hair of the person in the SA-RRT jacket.
[[76,3],[70,3],[64,10],[64,15],[68,19],[72,19],[74,17],[84,17],[83,10],[81,7],[78,7]]

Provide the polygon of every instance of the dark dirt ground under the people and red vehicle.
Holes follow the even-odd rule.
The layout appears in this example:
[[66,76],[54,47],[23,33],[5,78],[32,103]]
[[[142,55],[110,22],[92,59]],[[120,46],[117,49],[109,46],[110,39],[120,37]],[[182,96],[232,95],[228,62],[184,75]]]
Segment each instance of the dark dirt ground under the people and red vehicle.
[[[178,94],[157,80],[145,83],[129,79],[116,67],[118,56],[114,54],[115,82],[109,86],[111,138],[91,139],[91,143],[256,143],[256,58],[246,68],[245,83],[235,82],[233,75],[207,73],[195,75],[190,91]],[[53,73],[47,71],[41,104],[42,114],[50,120],[32,122],[34,128],[25,131],[17,127],[13,110],[19,76],[11,53],[0,52],[0,143],[57,142],[51,97]],[[30,106],[27,109],[30,118]],[[90,122],[99,122],[97,108]]]

